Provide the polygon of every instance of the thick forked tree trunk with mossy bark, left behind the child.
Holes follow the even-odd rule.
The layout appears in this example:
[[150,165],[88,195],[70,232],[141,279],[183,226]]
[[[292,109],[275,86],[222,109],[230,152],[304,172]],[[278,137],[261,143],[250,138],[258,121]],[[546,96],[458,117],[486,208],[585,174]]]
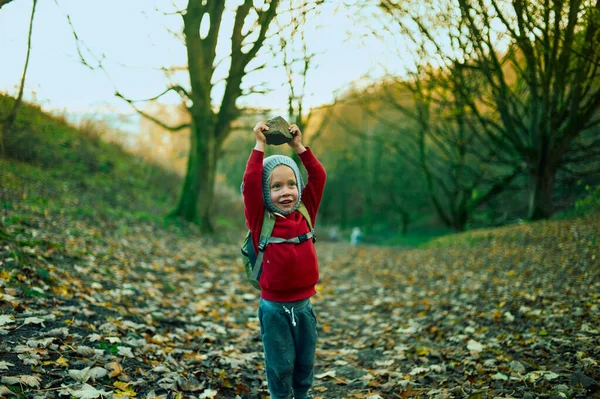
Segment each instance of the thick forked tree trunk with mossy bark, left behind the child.
[[[221,22],[226,12],[225,3],[223,0],[189,0],[181,16],[190,87],[186,89],[174,85],[155,97],[169,91],[177,92],[187,105],[191,123],[169,126],[138,109],[144,117],[170,131],[190,128],[187,172],[178,204],[171,216],[199,222],[204,232],[213,231],[211,209],[217,161],[230,133],[231,122],[239,115],[236,101],[242,95],[242,79],[250,72],[248,65],[267,38],[279,0],[265,1],[260,7],[255,6],[252,0],[244,0],[235,10],[230,42],[231,65],[225,78],[223,97],[215,107],[211,93],[218,63],[217,41],[224,34]],[[118,95],[133,105],[132,100]]]

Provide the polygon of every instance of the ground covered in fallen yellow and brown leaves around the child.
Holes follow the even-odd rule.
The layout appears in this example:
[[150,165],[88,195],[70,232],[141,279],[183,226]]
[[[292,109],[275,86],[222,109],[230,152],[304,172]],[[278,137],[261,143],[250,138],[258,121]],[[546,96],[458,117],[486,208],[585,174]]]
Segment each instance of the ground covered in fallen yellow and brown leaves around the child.
[[[266,398],[238,246],[37,215],[0,238],[0,397]],[[600,220],[318,242],[320,398],[591,397]]]

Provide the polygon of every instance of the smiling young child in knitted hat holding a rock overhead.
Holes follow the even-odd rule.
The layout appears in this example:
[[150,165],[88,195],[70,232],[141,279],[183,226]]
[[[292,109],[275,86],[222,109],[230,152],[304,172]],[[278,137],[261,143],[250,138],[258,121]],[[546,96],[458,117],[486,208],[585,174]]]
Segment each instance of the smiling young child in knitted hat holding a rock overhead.
[[[302,145],[298,126],[290,126],[293,140],[288,144],[308,172],[305,187],[291,158],[283,155],[264,158],[266,130],[269,127],[265,122],[254,127],[256,145],[246,165],[242,189],[246,225],[252,232],[256,253],[265,212],[275,218],[272,237],[290,239],[310,231],[297,209],[302,201],[314,226],[326,179],[321,163]],[[318,280],[313,240],[298,244],[270,243],[266,247],[259,280],[258,318],[271,399],[289,399],[292,392],[295,399],[311,397],[317,320],[310,297],[316,293]]]

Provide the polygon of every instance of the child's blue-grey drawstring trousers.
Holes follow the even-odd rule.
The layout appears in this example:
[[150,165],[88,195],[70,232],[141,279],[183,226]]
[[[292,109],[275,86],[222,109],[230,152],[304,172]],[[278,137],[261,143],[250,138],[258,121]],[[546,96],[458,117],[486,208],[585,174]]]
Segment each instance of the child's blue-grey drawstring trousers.
[[295,399],[309,398],[317,346],[317,318],[310,299],[261,298],[258,320],[271,399],[289,399],[292,391]]

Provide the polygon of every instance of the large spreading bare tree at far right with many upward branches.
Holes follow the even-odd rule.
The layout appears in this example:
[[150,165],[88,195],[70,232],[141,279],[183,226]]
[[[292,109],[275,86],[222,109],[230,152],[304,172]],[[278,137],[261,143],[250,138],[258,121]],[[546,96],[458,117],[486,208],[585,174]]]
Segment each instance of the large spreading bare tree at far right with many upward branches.
[[[403,33],[426,42],[430,60],[440,68],[477,72],[468,76],[477,76],[485,88],[478,96],[467,92],[467,84],[457,86],[477,119],[473,131],[488,143],[491,160],[524,169],[529,218],[549,217],[557,172],[586,155],[598,155],[600,138],[590,139],[587,132],[600,122],[600,1],[411,5],[381,1]],[[580,142],[584,135],[585,145]]]

